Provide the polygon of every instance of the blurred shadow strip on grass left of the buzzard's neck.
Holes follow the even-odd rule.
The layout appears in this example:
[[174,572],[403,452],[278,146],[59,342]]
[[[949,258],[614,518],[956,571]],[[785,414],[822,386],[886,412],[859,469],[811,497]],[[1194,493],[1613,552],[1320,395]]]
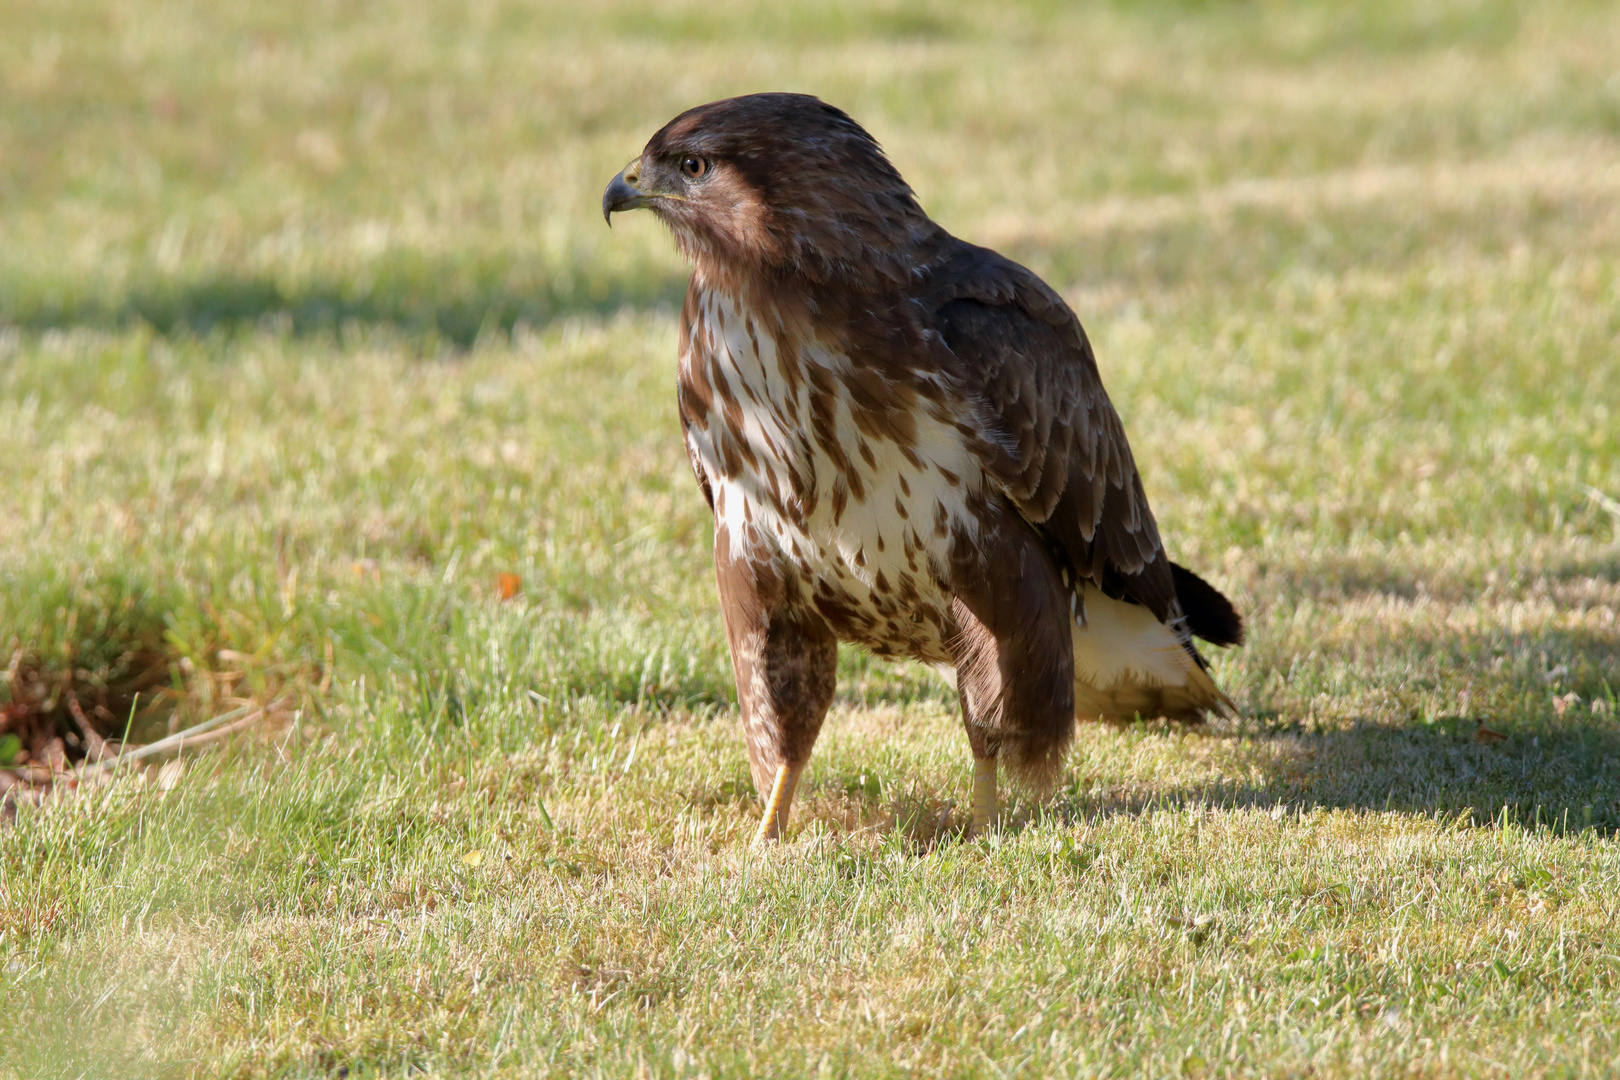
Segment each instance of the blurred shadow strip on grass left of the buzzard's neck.
[[588,266],[556,272],[410,256],[332,277],[149,277],[128,291],[0,282],[0,324],[31,332],[149,325],[165,335],[269,327],[298,337],[360,325],[394,329],[429,348],[468,348],[480,335],[520,324],[679,306],[684,293],[684,275],[654,270],[625,277]]

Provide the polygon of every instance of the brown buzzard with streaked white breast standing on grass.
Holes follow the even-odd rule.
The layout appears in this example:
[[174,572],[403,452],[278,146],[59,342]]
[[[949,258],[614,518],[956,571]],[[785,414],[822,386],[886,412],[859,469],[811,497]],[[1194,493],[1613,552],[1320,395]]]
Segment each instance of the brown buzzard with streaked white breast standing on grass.
[[[1040,784],[1077,717],[1231,703],[1192,644],[1243,640],[1170,562],[1079,319],[923,214],[876,141],[802,94],[671,120],[603,215],[692,261],[680,424],[714,512],[757,840],[782,834],[839,641],[954,674],[972,831],[996,763]],[[611,222],[611,217],[609,217]]]

